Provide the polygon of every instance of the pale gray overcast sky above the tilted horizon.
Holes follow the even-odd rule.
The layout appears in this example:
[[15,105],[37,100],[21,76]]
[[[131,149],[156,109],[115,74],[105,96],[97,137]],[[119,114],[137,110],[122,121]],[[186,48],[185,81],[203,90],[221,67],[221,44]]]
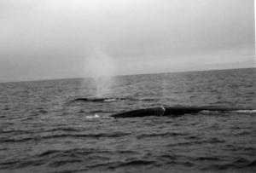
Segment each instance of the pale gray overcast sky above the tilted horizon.
[[0,82],[255,67],[253,0],[1,0]]

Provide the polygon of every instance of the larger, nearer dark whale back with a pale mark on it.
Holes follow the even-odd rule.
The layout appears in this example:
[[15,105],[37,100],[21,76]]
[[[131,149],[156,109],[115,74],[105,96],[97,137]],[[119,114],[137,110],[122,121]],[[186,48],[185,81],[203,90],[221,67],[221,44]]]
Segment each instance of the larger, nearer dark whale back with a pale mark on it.
[[137,117],[148,117],[148,116],[171,116],[176,117],[184,114],[198,113],[198,112],[232,112],[252,110],[246,108],[236,107],[150,107],[132,110],[128,112],[119,112],[110,115],[111,118],[137,118]]

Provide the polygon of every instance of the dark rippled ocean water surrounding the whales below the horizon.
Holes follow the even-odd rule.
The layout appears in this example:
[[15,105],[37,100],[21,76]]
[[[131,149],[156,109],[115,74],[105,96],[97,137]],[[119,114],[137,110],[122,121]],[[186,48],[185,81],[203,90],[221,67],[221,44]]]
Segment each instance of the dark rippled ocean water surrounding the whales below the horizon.
[[256,172],[256,112],[109,118],[144,107],[256,109],[255,68],[0,84],[0,172]]

